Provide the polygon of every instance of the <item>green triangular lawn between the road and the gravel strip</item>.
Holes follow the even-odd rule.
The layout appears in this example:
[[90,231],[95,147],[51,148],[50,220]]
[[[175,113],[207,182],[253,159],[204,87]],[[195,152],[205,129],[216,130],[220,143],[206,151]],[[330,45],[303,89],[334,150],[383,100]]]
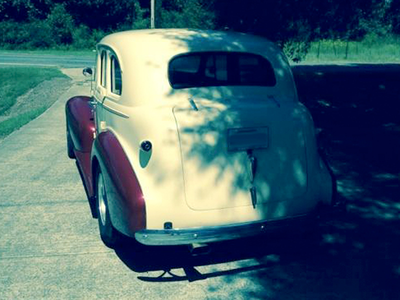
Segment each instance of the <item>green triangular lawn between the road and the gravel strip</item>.
[[0,68],[0,115],[14,105],[17,97],[44,80],[66,77],[56,68],[1,67]]

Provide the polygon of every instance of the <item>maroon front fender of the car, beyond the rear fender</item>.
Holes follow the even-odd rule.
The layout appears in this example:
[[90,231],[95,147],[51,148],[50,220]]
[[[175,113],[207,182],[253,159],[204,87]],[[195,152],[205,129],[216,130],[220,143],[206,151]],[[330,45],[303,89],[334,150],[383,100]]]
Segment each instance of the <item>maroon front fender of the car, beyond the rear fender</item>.
[[94,109],[88,96],[70,98],[65,104],[66,123],[74,150],[90,152],[95,132]]

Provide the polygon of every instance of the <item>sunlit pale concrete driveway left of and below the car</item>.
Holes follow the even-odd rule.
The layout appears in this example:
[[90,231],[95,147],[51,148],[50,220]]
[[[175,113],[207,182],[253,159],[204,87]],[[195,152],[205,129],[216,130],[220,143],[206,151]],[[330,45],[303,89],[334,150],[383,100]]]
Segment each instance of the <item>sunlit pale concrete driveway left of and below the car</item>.
[[[67,92],[0,142],[0,299],[201,299],[227,298],[230,293],[245,298],[238,289],[254,288],[245,275],[229,285],[223,276],[191,284],[187,278],[154,283],[138,278],[143,274],[132,271],[102,244],[74,161],[65,149],[65,101],[88,94],[90,88],[80,71],[66,70],[73,78]],[[258,264],[249,259],[200,268],[213,272],[250,266],[243,269],[248,271]],[[144,276],[161,273],[149,271]],[[181,268],[174,273],[185,276]]]

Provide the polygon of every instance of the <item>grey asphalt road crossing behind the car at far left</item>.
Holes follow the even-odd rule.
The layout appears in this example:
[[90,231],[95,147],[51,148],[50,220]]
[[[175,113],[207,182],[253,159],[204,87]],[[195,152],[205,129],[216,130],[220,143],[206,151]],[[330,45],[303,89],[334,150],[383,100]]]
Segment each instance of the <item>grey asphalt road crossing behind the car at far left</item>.
[[94,65],[94,53],[87,56],[0,52],[0,65],[56,66],[77,68]]

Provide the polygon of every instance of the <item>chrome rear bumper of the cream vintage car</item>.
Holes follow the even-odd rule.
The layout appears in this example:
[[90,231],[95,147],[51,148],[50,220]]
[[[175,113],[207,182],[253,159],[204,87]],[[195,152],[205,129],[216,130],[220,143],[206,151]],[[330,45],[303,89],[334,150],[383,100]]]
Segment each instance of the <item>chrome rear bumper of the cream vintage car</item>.
[[296,217],[238,223],[224,226],[205,226],[187,229],[144,229],[135,233],[136,240],[145,245],[180,245],[190,243],[204,243],[222,241],[260,233],[276,232],[285,228],[301,230],[315,220],[315,214]]

